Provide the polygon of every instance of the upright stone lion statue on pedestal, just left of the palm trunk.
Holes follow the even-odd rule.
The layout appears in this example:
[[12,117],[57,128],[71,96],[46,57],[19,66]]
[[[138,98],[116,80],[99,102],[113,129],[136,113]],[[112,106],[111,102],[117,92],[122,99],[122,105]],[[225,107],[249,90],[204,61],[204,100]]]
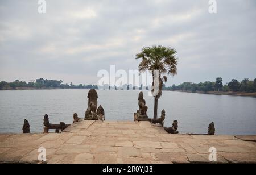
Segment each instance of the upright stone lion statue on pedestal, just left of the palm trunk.
[[137,110],[137,113],[134,113],[134,121],[138,120],[147,120],[147,106],[146,106],[146,101],[143,96],[143,92],[141,91],[139,93],[139,98],[138,98],[138,105],[139,105],[139,110]]

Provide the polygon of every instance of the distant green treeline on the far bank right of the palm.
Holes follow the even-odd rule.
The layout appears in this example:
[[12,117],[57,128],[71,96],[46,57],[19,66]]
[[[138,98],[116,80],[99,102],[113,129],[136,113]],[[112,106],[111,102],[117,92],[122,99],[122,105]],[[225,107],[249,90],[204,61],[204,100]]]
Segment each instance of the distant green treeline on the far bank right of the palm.
[[229,83],[223,85],[222,78],[216,78],[215,82],[205,81],[198,84],[192,82],[183,82],[182,84],[171,87],[163,87],[163,90],[183,90],[183,91],[234,91],[234,92],[256,92],[256,78],[252,81],[244,78],[241,82],[232,79]]

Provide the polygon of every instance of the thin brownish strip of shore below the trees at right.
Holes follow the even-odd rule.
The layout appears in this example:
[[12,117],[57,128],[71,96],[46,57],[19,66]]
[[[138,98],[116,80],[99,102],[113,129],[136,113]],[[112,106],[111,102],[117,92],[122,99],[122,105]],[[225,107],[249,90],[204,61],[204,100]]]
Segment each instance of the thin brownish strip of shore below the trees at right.
[[184,93],[198,93],[198,94],[213,94],[213,95],[234,95],[234,96],[246,96],[246,97],[256,97],[256,93],[245,93],[245,92],[233,92],[233,91],[189,91],[189,90],[167,90],[167,91],[178,91]]

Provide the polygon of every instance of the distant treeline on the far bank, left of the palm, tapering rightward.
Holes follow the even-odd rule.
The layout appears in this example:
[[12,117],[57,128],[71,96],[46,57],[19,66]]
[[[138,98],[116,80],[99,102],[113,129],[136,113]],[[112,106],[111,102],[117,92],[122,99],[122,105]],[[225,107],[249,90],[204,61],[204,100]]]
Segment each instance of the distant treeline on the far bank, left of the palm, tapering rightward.
[[63,84],[62,80],[44,80],[43,78],[36,79],[36,81],[19,81],[16,80],[14,82],[0,82],[0,89],[17,89],[17,88],[35,88],[35,89],[48,89],[48,88],[56,88],[56,89],[98,89],[97,85],[73,85],[72,82],[70,84]]

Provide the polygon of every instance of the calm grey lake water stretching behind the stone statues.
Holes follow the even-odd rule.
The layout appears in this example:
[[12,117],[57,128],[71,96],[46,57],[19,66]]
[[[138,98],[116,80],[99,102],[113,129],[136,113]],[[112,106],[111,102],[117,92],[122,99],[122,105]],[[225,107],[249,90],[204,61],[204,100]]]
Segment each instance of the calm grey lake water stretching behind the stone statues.
[[[106,120],[133,120],[138,109],[139,91],[103,90],[98,105],[105,109]],[[31,132],[43,131],[43,116],[51,123],[72,123],[73,113],[84,118],[88,90],[16,90],[0,91],[0,132],[22,132],[23,120],[30,122]],[[154,98],[144,99],[152,118]],[[178,120],[181,133],[204,134],[214,122],[216,134],[256,134],[256,98],[233,97],[164,91],[158,101],[158,114],[166,110],[165,126]]]

